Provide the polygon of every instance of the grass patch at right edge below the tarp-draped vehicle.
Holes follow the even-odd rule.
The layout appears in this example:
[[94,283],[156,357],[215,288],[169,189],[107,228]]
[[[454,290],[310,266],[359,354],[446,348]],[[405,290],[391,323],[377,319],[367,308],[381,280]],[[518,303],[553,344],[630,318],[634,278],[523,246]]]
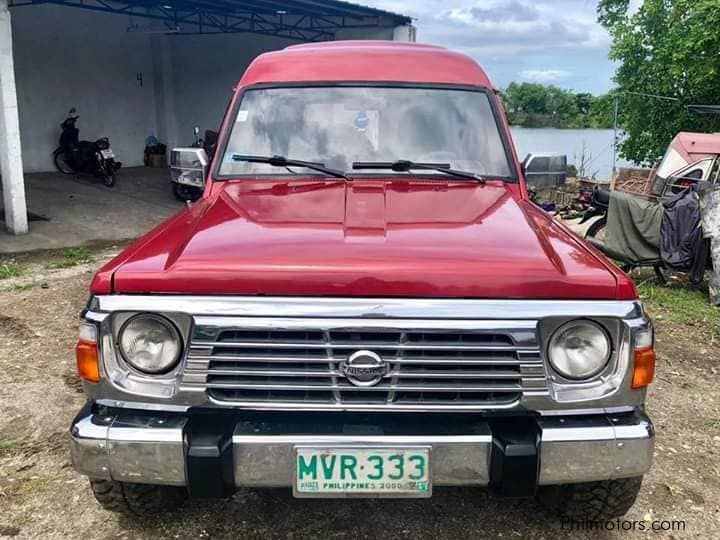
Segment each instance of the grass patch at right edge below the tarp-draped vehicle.
[[707,328],[713,335],[720,336],[720,308],[710,304],[707,290],[692,289],[684,284],[662,287],[645,281],[638,283],[638,291],[651,316]]

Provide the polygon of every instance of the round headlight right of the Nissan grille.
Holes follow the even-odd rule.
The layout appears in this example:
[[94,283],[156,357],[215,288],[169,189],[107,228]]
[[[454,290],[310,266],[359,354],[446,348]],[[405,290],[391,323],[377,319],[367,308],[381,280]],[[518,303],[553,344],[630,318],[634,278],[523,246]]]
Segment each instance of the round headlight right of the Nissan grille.
[[550,339],[548,359],[568,379],[588,379],[607,365],[612,346],[607,332],[591,321],[571,321]]

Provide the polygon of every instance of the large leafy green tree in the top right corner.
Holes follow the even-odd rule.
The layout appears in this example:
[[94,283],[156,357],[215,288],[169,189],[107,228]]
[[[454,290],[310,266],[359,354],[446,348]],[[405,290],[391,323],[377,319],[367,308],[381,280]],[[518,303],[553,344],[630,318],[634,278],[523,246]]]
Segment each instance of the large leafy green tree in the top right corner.
[[[720,104],[718,0],[600,0],[598,17],[610,35],[610,59],[626,137],[620,153],[636,163],[662,156],[678,131],[718,131],[720,116],[689,113],[691,104]],[[625,92],[656,94],[677,101]]]

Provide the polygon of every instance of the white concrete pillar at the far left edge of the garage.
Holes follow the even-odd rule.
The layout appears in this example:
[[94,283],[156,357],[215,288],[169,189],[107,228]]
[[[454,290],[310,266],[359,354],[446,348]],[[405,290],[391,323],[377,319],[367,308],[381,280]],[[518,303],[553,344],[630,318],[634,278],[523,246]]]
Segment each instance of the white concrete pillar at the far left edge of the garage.
[[27,206],[7,0],[0,0],[0,174],[5,225],[11,234],[24,234],[28,232]]

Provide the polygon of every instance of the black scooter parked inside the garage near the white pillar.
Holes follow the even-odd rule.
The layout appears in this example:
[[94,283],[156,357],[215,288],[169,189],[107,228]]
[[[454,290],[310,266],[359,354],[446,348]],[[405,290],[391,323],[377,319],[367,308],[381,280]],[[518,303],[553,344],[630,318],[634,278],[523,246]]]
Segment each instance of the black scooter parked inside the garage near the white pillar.
[[63,174],[85,173],[102,178],[107,187],[115,185],[115,173],[122,164],[115,161],[110,140],[103,137],[96,141],[81,141],[80,130],[75,127],[79,116],[75,107],[60,124],[60,146],[53,152],[53,162]]

